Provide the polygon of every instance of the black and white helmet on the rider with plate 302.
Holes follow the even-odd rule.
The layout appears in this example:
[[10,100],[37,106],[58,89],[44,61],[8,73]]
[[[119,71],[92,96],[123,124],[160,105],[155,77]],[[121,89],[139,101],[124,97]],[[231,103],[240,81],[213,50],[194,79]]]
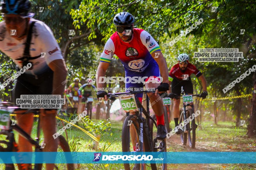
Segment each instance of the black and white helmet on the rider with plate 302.
[[116,27],[132,25],[134,23],[134,17],[129,12],[120,12],[115,15],[113,23]]

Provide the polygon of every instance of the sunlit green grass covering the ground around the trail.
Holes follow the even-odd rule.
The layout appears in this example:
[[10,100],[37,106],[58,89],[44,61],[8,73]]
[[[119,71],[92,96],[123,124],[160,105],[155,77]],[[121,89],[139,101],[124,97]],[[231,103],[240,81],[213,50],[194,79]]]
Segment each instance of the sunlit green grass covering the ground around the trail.
[[[93,120],[97,122],[97,120]],[[61,129],[62,125],[59,123],[57,129]],[[167,151],[256,151],[255,138],[247,138],[247,127],[241,126],[235,128],[234,122],[218,122],[215,125],[214,122],[208,121],[202,123],[202,128],[196,130],[196,149],[190,149],[189,147],[183,147],[180,144],[175,144],[168,140]],[[173,121],[171,127],[174,127]],[[111,121],[110,135],[101,136],[98,150],[93,150],[89,147],[92,145],[92,138],[86,135],[83,131],[76,127],[71,127],[67,130],[69,142],[75,141],[76,144],[72,145],[72,150],[79,152],[96,152],[96,151],[122,151],[121,134],[122,134],[122,122]],[[65,134],[62,134],[65,136]],[[33,138],[36,136],[36,123],[33,125],[32,130]],[[17,141],[17,133],[15,132],[15,138]],[[73,138],[73,139],[72,139]],[[0,140],[3,140],[3,136]],[[213,142],[217,142],[216,147],[213,147]],[[78,145],[79,143],[79,145]],[[80,164],[78,169],[124,169],[122,164]],[[64,166],[59,169],[64,169]],[[0,169],[3,169],[3,165],[0,165]],[[150,169],[150,168],[147,168]],[[256,169],[255,164],[169,164],[168,169]]]

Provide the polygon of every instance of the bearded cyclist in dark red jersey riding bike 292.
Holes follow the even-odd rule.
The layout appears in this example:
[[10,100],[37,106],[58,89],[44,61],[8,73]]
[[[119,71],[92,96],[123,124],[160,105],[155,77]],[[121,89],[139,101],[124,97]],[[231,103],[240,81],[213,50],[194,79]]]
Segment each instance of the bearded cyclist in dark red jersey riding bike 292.
[[[201,81],[203,92],[201,93],[202,98],[206,98],[207,93],[207,82],[202,73],[191,63],[189,63],[188,54],[179,54],[178,64],[175,64],[169,73],[169,84],[171,85],[171,91],[167,91],[171,98],[174,98],[173,104],[173,118],[175,122],[175,127],[179,125],[179,103],[180,98],[177,96],[181,94],[181,87],[186,94],[193,94],[193,85],[191,82],[190,75],[195,74]],[[182,130],[178,129],[176,134],[181,134]]]

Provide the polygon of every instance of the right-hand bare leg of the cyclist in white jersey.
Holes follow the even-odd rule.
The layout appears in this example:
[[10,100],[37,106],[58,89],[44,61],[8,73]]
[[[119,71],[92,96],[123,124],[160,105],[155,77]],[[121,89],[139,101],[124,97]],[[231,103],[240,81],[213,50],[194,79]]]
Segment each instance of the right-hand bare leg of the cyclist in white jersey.
[[[41,110],[40,123],[45,136],[44,152],[57,152],[58,138],[54,139],[53,134],[56,133],[56,110]],[[53,170],[54,164],[46,164],[47,170]]]

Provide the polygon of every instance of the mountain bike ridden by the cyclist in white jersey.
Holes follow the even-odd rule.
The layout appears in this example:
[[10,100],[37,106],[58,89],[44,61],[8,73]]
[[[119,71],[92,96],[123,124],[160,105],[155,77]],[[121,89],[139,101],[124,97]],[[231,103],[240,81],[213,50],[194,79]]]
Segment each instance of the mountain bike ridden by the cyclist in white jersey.
[[[0,135],[5,135],[6,140],[0,140],[0,152],[18,152],[19,147],[17,143],[15,142],[14,133],[13,130],[17,131],[18,134],[22,135],[26,140],[28,140],[34,147],[35,152],[42,152],[42,146],[39,145],[40,140],[40,116],[37,119],[38,125],[37,125],[37,137],[36,140],[33,140],[33,138],[26,133],[19,125],[17,125],[14,121],[10,119],[10,114],[13,113],[14,109],[19,109],[19,107],[13,107],[12,103],[9,102],[0,102]],[[39,114],[40,111],[36,109],[29,109],[26,113],[34,113]],[[65,138],[63,136],[58,137],[58,150],[62,150],[63,152],[70,152],[69,145]],[[7,147],[3,147],[7,146]],[[71,155],[70,155],[71,156]],[[19,160],[22,160],[22,158],[19,158]],[[73,170],[74,164],[66,164],[67,170]],[[17,164],[17,167],[19,170],[24,170],[24,164],[20,163]],[[58,167],[55,165],[55,168],[58,169]],[[14,170],[14,164],[6,164],[6,170]],[[34,170],[41,170],[42,164],[34,164]]]

